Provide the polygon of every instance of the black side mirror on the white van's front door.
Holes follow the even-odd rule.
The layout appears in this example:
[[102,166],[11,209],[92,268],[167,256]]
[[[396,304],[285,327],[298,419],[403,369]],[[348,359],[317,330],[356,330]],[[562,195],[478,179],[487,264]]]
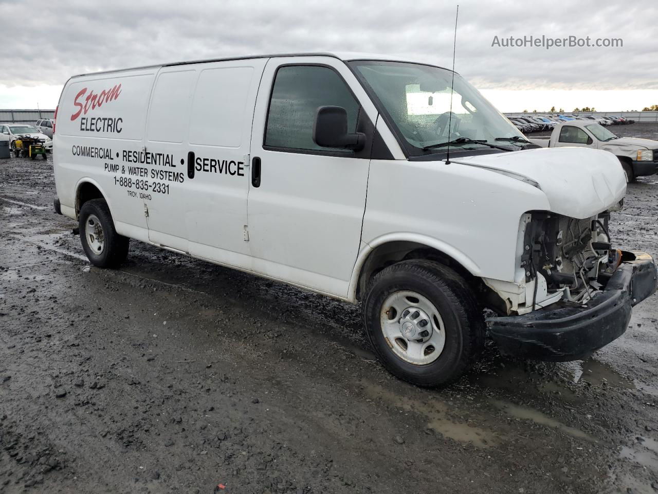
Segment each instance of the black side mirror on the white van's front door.
[[322,148],[359,151],[366,144],[362,132],[347,133],[347,111],[341,106],[321,106],[313,123],[313,142]]

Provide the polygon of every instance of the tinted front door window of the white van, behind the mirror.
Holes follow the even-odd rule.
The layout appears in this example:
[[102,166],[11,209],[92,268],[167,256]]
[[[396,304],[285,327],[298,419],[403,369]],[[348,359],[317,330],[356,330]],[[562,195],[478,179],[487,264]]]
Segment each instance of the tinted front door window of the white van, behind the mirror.
[[356,132],[359,103],[347,84],[328,67],[280,67],[274,78],[265,129],[265,146],[298,150],[351,151],[322,148],[313,142],[313,124],[320,106],[347,110],[347,132]]

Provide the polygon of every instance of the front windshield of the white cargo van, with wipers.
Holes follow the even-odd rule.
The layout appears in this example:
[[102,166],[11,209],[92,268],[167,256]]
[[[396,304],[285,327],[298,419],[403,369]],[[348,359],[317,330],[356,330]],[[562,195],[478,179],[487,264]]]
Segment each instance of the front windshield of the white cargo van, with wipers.
[[445,152],[445,148],[435,146],[458,139],[461,142],[456,147],[469,149],[487,147],[483,142],[493,144],[496,140],[497,145],[511,147],[517,140],[527,142],[459,74],[455,74],[450,118],[450,70],[417,63],[369,60],[352,61],[349,65],[370,94],[379,100],[397,127],[397,134],[407,142],[407,151],[413,155]]

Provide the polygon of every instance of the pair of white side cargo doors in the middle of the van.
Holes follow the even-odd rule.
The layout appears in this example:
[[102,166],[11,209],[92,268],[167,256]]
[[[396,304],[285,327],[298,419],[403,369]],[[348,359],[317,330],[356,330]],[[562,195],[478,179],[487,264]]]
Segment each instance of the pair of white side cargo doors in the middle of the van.
[[265,59],[163,67],[143,165],[149,241],[249,269],[244,240],[253,106]]

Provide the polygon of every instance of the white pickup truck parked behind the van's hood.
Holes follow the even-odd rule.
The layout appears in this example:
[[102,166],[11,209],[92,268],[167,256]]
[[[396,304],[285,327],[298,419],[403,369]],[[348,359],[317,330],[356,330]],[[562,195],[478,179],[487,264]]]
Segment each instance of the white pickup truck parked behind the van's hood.
[[555,126],[550,137],[529,140],[542,148],[578,146],[610,151],[619,158],[626,182],[658,172],[658,141],[619,137],[594,121],[570,120]]

